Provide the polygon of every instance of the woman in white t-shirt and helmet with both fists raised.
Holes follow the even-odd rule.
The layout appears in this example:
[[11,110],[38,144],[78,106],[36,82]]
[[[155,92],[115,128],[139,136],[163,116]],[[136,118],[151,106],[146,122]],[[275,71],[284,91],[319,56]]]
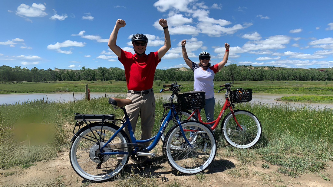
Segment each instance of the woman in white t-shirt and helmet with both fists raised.
[[[194,90],[202,90],[206,92],[206,105],[205,105],[205,114],[207,118],[207,122],[214,121],[214,106],[215,106],[215,98],[214,98],[214,75],[218,72],[224,65],[227,63],[229,56],[229,44],[225,43],[225,53],[223,56],[223,60],[219,63],[210,66],[210,54],[208,52],[200,52],[199,54],[199,64],[194,63],[187,56],[186,52],[186,41],[181,41],[181,49],[183,53],[183,58],[186,64],[193,70],[194,72]],[[200,109],[201,111],[201,109]],[[211,125],[212,126],[212,125]]]

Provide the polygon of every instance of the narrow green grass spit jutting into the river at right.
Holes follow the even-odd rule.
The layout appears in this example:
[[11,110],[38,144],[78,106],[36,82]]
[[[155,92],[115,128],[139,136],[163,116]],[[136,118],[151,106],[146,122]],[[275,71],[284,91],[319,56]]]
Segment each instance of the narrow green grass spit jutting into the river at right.
[[283,96],[275,99],[277,101],[288,102],[302,102],[302,103],[333,103],[333,96],[316,96],[316,95],[303,95],[303,96]]

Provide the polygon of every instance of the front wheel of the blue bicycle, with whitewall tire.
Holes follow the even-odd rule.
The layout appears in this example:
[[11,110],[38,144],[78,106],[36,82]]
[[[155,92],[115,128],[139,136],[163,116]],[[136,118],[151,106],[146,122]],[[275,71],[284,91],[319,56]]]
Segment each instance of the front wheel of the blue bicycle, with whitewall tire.
[[[216,154],[216,139],[206,125],[188,121],[181,124],[185,137],[181,134],[179,125],[174,125],[167,133],[164,152],[172,168],[184,174],[195,174],[205,170],[214,160]],[[190,132],[194,132],[190,134]]]

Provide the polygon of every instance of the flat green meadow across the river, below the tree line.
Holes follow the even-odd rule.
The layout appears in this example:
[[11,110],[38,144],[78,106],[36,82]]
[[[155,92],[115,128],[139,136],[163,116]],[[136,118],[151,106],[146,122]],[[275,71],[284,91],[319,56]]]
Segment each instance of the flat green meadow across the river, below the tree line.
[[[214,82],[215,92],[219,85],[225,82]],[[156,83],[153,84],[155,92],[162,88]],[[0,83],[0,93],[48,93],[48,92],[85,92],[85,84],[88,84],[90,92],[126,92],[127,85],[125,81],[64,81],[50,83]],[[193,90],[193,81],[180,81],[183,85],[182,92]],[[279,94],[319,94],[333,95],[333,81],[236,81],[236,88],[252,89],[253,93],[279,93]]]

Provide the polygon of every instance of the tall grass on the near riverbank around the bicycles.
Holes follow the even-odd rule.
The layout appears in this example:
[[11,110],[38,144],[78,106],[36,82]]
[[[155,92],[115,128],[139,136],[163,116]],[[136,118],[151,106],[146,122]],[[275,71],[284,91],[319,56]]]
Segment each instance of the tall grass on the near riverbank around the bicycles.
[[[1,105],[0,168],[49,160],[56,156],[60,148],[69,148],[75,124],[74,112],[115,113],[117,119],[122,118],[122,110],[115,110],[107,101],[107,98],[98,98],[75,103],[32,101],[22,105]],[[162,102],[166,101],[156,98],[155,134],[163,113]],[[221,108],[222,104],[216,103],[215,118]],[[223,140],[218,127],[215,135],[220,153],[217,157],[232,156],[246,165],[264,160],[278,165],[280,173],[291,177],[320,172],[327,161],[333,160],[332,109],[310,110],[286,103],[243,103],[236,104],[236,109],[251,111],[258,117],[262,125],[261,140],[251,149],[233,148]],[[137,137],[141,134],[140,129],[137,127]]]

